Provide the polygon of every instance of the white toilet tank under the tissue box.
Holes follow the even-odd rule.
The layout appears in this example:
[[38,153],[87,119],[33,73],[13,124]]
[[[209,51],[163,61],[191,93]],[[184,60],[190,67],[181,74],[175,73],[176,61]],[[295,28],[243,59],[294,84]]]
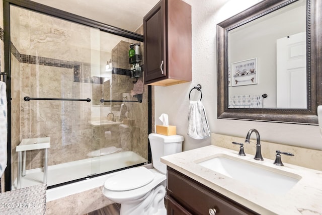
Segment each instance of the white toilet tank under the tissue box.
[[182,152],[183,136],[150,133],[148,137],[152,153],[152,165],[158,171],[166,174],[167,165],[161,163],[160,157]]

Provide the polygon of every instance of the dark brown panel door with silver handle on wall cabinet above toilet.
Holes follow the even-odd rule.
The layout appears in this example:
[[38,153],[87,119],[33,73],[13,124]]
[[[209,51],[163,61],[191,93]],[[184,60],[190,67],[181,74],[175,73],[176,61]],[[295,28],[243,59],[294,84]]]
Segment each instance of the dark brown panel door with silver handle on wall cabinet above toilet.
[[167,76],[166,0],[160,1],[143,19],[144,83]]

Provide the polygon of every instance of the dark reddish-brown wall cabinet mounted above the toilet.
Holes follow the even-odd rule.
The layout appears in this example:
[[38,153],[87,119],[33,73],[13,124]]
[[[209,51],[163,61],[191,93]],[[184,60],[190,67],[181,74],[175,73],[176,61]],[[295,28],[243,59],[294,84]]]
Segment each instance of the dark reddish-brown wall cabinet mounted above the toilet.
[[161,0],[144,18],[144,84],[192,81],[191,6]]

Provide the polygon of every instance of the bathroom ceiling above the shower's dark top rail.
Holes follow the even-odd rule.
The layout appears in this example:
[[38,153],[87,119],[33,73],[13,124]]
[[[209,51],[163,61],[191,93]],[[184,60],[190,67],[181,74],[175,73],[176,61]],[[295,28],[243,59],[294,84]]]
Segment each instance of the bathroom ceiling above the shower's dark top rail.
[[128,31],[136,31],[159,0],[32,0]]

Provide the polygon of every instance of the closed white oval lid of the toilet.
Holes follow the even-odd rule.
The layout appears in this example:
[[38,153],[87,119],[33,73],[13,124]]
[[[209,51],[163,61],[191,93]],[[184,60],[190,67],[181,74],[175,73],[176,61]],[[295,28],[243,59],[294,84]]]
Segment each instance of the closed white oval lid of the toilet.
[[125,191],[150,183],[154,174],[145,167],[131,168],[108,178],[104,186],[113,191]]

